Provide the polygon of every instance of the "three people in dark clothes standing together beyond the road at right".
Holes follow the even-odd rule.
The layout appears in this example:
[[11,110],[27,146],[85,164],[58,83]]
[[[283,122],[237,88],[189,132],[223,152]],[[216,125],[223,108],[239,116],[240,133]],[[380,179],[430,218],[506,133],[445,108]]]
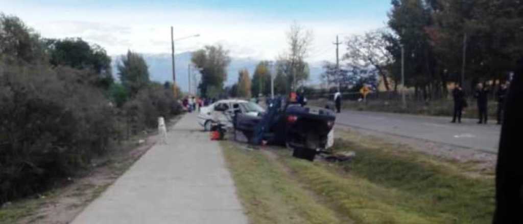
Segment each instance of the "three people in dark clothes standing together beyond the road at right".
[[[488,94],[491,93],[492,89],[488,85],[483,85],[479,83],[474,90],[474,98],[477,101],[477,112],[479,121],[477,123],[486,124],[488,121]],[[499,85],[498,90],[496,91],[496,101],[497,101],[497,124],[501,125],[503,120],[503,109],[505,97],[507,95],[507,83],[502,83]],[[452,90],[452,97],[454,98],[454,116],[452,118],[452,123],[461,123],[461,115],[463,109],[468,107],[467,99],[465,98],[465,92],[461,88],[460,84],[456,84],[454,90]]]

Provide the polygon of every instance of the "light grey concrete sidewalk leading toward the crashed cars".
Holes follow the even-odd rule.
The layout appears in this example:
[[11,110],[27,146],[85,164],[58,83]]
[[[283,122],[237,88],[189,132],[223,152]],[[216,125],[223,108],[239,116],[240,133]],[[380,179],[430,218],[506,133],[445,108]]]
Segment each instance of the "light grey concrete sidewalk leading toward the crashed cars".
[[220,146],[187,114],[73,223],[247,223]]

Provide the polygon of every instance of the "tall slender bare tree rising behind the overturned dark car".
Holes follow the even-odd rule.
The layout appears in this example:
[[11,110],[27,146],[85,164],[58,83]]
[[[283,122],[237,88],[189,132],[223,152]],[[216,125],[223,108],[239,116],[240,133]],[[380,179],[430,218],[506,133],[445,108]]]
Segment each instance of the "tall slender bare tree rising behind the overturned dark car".
[[297,82],[309,78],[309,69],[304,58],[307,56],[312,40],[312,30],[305,30],[296,21],[292,23],[287,32],[289,50],[285,56],[280,57],[280,60],[284,59],[288,64],[286,66],[288,70],[285,73],[290,76],[294,91],[297,89]]

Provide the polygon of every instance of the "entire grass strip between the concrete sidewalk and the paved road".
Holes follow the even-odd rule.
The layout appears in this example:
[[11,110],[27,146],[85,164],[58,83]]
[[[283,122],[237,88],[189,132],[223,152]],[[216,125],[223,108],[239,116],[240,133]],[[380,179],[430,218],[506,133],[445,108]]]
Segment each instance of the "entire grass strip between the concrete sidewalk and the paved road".
[[274,159],[222,143],[252,223],[339,223],[339,217],[356,223],[491,222],[492,176],[465,175],[467,164],[371,136],[342,136],[333,150],[357,156],[335,164],[295,159],[285,150],[270,151]]

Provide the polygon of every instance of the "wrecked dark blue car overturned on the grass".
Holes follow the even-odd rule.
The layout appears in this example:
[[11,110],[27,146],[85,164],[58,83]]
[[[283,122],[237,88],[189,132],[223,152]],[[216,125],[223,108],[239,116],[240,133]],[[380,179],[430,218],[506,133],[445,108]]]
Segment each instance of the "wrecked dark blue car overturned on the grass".
[[293,149],[293,156],[313,161],[333,143],[334,111],[287,103],[281,98],[270,102],[260,116],[238,114],[234,129],[252,144],[274,144]]

